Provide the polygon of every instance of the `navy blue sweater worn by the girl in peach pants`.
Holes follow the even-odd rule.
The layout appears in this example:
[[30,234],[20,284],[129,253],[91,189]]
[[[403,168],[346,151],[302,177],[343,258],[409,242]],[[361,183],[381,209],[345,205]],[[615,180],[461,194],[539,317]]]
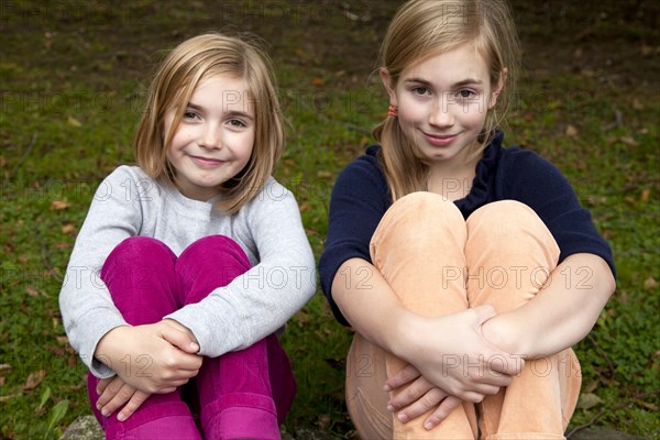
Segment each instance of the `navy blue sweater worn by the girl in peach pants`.
[[[546,223],[561,251],[559,261],[576,253],[601,256],[615,273],[609,245],[598,234],[591,213],[580,206],[561,172],[538,154],[517,146],[504,148],[503,133],[484,151],[468,197],[455,200],[464,218],[497,200],[518,200]],[[330,198],[326,250],[319,262],[321,288],[334,317],[348,321],[332,299],[331,286],[340,266],[358,257],[371,263],[371,238],[392,205],[385,174],[377,160],[378,145],[349,164],[339,175]]]

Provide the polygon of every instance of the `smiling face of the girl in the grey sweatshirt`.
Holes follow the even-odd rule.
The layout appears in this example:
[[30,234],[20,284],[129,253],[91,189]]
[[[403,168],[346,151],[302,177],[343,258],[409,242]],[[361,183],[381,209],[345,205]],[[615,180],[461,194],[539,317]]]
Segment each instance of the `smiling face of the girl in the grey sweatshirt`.
[[[219,75],[199,81],[167,150],[184,196],[209,200],[245,167],[254,145],[254,111],[244,79]],[[165,117],[165,133],[174,114],[175,109]]]

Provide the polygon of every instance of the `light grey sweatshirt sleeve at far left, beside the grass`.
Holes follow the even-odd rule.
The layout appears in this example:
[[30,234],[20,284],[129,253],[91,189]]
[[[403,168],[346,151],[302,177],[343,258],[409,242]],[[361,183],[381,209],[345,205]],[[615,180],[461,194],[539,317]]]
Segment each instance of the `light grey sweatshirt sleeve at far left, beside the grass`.
[[142,215],[135,197],[139,193],[128,169],[116,169],[97,188],[76,238],[59,294],[69,342],[97,377],[114,374],[94,358],[99,340],[108,331],[127,323],[112,302],[100,272],[110,252],[140,231]]

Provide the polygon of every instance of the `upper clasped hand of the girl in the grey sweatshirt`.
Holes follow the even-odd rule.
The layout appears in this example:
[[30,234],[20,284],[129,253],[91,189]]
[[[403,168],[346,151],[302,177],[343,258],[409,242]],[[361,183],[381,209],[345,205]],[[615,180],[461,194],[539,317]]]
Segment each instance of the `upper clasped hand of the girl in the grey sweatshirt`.
[[114,328],[101,338],[95,356],[136,389],[172,393],[197,375],[202,361],[190,331],[174,322]]

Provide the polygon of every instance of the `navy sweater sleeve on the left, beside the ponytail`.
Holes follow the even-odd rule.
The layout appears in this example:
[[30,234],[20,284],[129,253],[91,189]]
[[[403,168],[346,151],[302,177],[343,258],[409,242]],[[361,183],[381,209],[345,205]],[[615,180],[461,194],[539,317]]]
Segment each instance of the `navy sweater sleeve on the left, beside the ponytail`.
[[[349,164],[339,175],[330,197],[328,237],[319,261],[321,288],[332,314],[343,326],[349,322],[332,298],[332,282],[341,265],[351,258],[371,263],[370,242],[389,206],[385,177],[373,155]],[[360,274],[346,274],[346,282],[360,282]]]

